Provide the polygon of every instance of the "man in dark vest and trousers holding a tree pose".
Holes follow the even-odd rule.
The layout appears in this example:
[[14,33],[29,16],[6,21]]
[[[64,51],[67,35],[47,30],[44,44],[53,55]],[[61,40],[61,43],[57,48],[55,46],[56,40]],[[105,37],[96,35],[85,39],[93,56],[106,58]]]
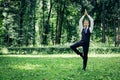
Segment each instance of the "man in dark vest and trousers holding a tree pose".
[[[90,20],[90,25],[89,25],[89,21],[85,19],[84,20],[84,27],[83,27],[82,21],[83,21],[85,16],[87,16],[88,19]],[[71,45],[70,48],[82,57],[82,59],[83,59],[83,70],[85,71],[86,66],[87,66],[87,60],[88,60],[90,35],[93,31],[93,25],[94,25],[93,19],[90,17],[90,15],[88,15],[86,10],[85,10],[84,15],[81,17],[81,19],[79,21],[79,25],[80,25],[80,32],[81,32],[82,38],[81,38],[80,41]],[[83,53],[79,52],[79,50],[77,50],[77,48],[80,47],[80,46],[83,47]]]

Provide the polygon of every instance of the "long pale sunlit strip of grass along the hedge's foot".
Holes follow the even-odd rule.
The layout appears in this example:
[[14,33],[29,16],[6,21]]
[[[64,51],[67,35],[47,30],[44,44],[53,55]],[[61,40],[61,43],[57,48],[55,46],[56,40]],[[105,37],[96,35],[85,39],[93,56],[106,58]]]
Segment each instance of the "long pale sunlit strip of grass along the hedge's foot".
[[[120,57],[120,54],[88,54],[89,57]],[[44,57],[50,57],[50,58],[72,58],[72,57],[79,57],[76,54],[51,54],[51,55],[0,55],[0,57],[33,57],[33,58],[44,58]]]

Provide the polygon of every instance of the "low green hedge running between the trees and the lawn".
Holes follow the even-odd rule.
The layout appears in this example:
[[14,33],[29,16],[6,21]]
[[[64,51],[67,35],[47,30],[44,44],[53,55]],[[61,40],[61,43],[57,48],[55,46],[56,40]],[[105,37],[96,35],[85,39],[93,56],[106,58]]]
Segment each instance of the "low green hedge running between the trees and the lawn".
[[[8,50],[7,54],[72,54],[74,53],[73,50],[71,50],[69,47],[14,47],[14,48],[8,48],[4,49]],[[79,48],[80,51],[82,51],[82,48]],[[1,54],[4,54],[3,50],[0,52]],[[6,53],[6,51],[5,51]],[[89,48],[89,53],[93,54],[111,54],[111,53],[120,53],[120,47],[99,47]]]

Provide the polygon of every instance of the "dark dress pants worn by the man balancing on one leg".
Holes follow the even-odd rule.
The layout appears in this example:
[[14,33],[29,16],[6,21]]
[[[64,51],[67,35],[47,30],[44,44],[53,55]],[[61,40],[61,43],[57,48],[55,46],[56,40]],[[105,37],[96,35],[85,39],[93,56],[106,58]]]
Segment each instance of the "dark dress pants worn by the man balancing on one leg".
[[[83,53],[79,52],[79,50],[77,49],[80,46],[83,47]],[[89,43],[85,43],[84,41],[78,41],[78,42],[74,43],[73,45],[71,45],[70,48],[82,57],[83,70],[85,70],[86,66],[87,66],[87,60],[88,60]]]

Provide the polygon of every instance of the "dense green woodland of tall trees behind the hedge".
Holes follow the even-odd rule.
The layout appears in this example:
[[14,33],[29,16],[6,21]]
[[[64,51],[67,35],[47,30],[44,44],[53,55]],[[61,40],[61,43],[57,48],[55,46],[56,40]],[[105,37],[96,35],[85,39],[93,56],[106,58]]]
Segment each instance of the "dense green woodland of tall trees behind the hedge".
[[91,41],[120,45],[120,0],[0,0],[0,46],[80,40],[79,19],[94,18]]

